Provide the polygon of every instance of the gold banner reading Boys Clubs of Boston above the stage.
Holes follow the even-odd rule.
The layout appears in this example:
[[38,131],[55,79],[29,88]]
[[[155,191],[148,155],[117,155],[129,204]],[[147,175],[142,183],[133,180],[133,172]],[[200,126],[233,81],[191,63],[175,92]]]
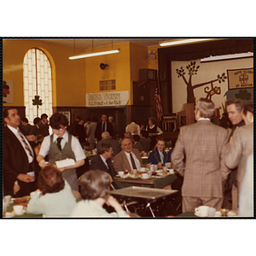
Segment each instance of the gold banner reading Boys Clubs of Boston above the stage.
[[227,70],[229,90],[253,88],[253,68]]

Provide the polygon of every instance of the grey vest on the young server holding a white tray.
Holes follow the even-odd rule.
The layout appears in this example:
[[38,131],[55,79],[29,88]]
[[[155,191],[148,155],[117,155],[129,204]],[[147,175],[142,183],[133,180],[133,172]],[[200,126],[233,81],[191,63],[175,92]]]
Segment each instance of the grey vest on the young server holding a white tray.
[[[72,135],[68,134],[68,142],[65,144],[64,148],[60,149],[57,144],[53,141],[54,135],[50,136],[50,146],[49,146],[49,165],[55,165],[55,161],[65,160],[67,158],[76,160],[71,147]],[[70,184],[71,188],[77,190],[77,174],[76,169],[70,169],[62,172],[62,177],[64,177]]]

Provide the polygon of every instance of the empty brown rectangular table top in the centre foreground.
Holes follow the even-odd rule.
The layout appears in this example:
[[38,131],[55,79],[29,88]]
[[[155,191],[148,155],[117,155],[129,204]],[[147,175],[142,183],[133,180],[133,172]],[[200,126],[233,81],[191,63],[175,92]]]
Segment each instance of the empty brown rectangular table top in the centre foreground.
[[172,189],[154,189],[154,188],[142,188],[142,187],[128,187],[125,189],[116,189],[111,191],[112,195],[122,195],[128,197],[137,197],[148,200],[158,199],[167,195],[177,193],[177,190]]

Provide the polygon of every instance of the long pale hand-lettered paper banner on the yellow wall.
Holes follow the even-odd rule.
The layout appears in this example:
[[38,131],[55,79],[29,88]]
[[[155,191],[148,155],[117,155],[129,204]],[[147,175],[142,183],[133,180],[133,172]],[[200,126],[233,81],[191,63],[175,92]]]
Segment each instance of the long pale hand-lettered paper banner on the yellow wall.
[[86,107],[109,107],[126,105],[129,100],[129,90],[86,93]]

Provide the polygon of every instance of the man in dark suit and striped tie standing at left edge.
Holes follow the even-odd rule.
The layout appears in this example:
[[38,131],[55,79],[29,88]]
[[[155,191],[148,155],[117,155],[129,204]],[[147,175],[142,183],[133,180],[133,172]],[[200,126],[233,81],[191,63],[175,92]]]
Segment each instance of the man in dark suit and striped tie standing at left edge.
[[[37,189],[36,179],[39,166],[33,150],[33,143],[29,143],[26,136],[19,129],[20,114],[16,108],[5,108],[3,119],[3,189],[5,195],[20,197],[29,195]],[[20,186],[14,195],[15,181]]]

